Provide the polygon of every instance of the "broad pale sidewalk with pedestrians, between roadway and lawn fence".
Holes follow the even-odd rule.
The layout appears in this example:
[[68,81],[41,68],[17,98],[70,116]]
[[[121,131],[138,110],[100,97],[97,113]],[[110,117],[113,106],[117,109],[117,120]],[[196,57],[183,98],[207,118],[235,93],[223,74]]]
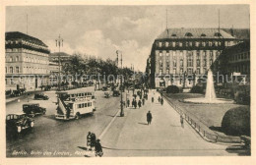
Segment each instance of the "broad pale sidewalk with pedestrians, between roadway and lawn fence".
[[[159,93],[154,95],[155,102],[152,103],[153,95],[149,93],[149,99],[142,108],[126,108],[125,117],[116,118],[101,139],[104,156],[228,154],[226,145],[205,141],[185,121],[182,128],[178,113],[167,102],[160,105]],[[146,114],[149,110],[153,121],[148,126]]]

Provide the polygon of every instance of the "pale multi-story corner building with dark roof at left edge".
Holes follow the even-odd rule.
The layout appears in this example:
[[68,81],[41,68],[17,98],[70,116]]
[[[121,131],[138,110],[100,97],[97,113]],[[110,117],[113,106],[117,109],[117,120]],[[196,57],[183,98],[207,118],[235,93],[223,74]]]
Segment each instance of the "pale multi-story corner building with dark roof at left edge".
[[5,35],[6,89],[37,88],[48,83],[49,50],[38,38],[14,31]]

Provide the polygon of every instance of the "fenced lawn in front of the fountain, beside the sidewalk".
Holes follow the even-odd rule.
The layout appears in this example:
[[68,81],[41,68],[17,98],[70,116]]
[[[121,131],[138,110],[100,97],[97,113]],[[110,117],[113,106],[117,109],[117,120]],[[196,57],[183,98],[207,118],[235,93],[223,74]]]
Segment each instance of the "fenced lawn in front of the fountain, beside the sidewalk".
[[[240,104],[199,104],[199,103],[185,103],[182,102],[183,99],[186,98],[200,98],[204,97],[204,94],[199,93],[164,93],[164,97],[167,99],[168,102],[171,102],[171,104],[174,104],[175,106],[179,107],[186,115],[188,115],[190,118],[193,119],[194,122],[199,124],[202,129],[206,130],[208,133],[218,136],[233,136],[233,137],[239,137],[243,135],[244,133],[234,133],[234,134],[226,134],[224,132],[224,128],[222,127],[222,122],[224,119],[225,113],[230,109],[235,109],[239,111],[237,114],[232,114],[231,118],[228,120],[234,119],[233,117],[239,117],[243,116],[244,110],[246,111],[246,114],[244,116],[248,116],[250,113],[249,109],[250,107],[248,105],[240,105]],[[247,113],[248,112],[248,113]],[[234,122],[235,120],[232,120],[231,122]],[[249,120],[250,121],[250,120]],[[237,120],[235,121],[235,125],[244,125],[244,121]],[[247,122],[248,123],[248,122]],[[245,124],[246,127],[247,123]],[[236,127],[235,126],[235,127]],[[250,130],[250,128],[248,128]],[[248,135],[249,136],[249,133]]]

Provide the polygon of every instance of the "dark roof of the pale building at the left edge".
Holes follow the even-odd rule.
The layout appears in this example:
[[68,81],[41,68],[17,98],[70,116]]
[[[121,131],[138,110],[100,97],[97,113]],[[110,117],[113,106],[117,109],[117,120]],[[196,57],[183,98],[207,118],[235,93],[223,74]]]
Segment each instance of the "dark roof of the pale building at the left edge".
[[5,32],[5,40],[17,40],[17,39],[22,39],[22,40],[29,41],[44,47],[48,47],[40,39],[35,38],[31,35],[25,34],[23,32],[20,32],[20,31]]

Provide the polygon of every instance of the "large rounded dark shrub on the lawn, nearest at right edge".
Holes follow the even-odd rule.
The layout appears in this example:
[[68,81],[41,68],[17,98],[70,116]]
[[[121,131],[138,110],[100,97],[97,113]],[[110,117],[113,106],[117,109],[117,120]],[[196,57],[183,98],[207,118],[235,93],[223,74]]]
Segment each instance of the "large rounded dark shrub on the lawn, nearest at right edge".
[[240,106],[226,111],[222,130],[229,136],[250,136],[250,107]]

